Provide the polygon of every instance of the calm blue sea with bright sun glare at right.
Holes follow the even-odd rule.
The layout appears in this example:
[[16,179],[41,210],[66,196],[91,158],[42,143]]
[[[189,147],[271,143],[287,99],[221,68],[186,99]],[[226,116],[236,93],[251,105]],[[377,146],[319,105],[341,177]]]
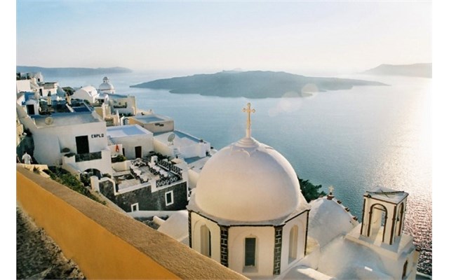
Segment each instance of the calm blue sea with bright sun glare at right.
[[[192,73],[190,73],[192,74]],[[298,73],[300,74],[300,73]],[[98,87],[105,75],[44,77],[62,87]],[[247,99],[172,94],[130,85],[185,76],[177,71],[107,75],[118,94],[138,108],[175,120],[175,129],[219,150],[245,136],[248,102],[255,109],[252,136],[279,151],[301,179],[321,185],[361,221],[363,193],[384,186],[409,193],[404,231],[420,248],[418,271],[432,274],[431,79],[339,75],[385,86],[318,92],[309,97]],[[300,92],[300,89],[298,89]],[[299,96],[299,94],[297,94]]]

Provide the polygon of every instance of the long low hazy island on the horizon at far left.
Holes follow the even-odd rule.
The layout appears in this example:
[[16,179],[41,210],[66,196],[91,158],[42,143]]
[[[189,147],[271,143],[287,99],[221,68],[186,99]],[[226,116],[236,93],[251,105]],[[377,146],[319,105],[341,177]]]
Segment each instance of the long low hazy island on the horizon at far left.
[[78,67],[39,67],[39,66],[16,66],[15,71],[21,73],[41,72],[43,76],[90,76],[109,73],[131,73],[133,70],[124,67],[109,68],[78,68]]

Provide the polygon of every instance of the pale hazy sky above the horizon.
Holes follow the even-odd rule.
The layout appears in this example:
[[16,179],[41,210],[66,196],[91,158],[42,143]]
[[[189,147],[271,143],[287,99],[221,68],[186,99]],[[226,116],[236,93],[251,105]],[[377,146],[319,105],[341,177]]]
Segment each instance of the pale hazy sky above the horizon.
[[335,71],[431,62],[430,1],[17,1],[17,64]]

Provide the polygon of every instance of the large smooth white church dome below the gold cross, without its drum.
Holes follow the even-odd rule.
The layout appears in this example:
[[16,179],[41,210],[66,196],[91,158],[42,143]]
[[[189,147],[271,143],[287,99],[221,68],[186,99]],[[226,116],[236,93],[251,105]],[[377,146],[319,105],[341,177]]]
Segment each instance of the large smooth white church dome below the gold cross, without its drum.
[[274,221],[308,207],[288,160],[248,135],[206,162],[192,200],[210,218],[238,222]]

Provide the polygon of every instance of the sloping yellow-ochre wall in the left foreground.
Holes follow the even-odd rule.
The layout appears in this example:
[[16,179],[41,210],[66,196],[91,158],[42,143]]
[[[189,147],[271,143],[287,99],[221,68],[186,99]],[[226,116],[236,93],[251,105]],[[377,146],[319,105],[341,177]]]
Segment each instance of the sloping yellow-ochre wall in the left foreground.
[[243,279],[126,214],[16,170],[18,204],[88,279]]

